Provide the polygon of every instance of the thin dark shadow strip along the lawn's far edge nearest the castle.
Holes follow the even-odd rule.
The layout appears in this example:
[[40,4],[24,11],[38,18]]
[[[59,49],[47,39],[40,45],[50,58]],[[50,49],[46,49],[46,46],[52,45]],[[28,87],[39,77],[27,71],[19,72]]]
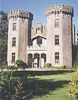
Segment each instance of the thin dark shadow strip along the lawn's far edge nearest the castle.
[[58,74],[65,74],[65,73],[72,73],[75,72],[73,70],[52,70],[52,71],[16,71],[13,72],[14,76],[41,76],[41,75],[58,75]]

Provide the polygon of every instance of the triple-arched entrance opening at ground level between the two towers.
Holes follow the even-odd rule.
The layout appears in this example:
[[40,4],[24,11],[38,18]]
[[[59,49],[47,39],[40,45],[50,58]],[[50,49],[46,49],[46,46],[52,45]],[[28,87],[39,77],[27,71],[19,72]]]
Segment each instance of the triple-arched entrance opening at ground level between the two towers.
[[43,68],[46,62],[46,54],[28,54],[28,66],[34,68]]

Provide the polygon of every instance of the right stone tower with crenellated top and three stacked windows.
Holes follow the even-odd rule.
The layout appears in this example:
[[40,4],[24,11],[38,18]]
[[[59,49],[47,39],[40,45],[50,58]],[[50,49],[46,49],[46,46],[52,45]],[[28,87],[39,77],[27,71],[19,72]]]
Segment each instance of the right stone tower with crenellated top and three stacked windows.
[[47,17],[47,63],[72,67],[73,8],[67,5],[50,6]]

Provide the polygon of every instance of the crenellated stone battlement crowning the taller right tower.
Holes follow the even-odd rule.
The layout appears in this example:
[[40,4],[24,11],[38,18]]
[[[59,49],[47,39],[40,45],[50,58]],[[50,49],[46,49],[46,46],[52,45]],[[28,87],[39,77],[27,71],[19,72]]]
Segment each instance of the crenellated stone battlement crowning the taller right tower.
[[73,8],[67,5],[55,5],[55,6],[50,6],[49,8],[46,9],[46,16],[53,13],[70,14],[73,17]]

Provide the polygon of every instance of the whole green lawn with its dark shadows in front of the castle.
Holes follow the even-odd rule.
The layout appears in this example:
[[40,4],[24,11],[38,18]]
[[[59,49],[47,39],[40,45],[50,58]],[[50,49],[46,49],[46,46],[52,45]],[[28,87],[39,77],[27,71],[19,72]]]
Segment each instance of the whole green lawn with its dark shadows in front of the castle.
[[[18,94],[20,99],[15,100],[76,100],[75,98],[71,98],[67,95],[69,82],[74,75],[74,72],[75,70],[70,69],[58,69],[51,71],[16,71],[13,75],[18,76],[17,79],[21,79],[23,84]],[[27,79],[26,74],[28,74]],[[11,86],[6,85],[12,94],[12,91],[14,90],[12,88],[18,86],[15,83],[20,82],[18,80],[12,80],[14,81],[14,85],[13,83],[11,83]]]

